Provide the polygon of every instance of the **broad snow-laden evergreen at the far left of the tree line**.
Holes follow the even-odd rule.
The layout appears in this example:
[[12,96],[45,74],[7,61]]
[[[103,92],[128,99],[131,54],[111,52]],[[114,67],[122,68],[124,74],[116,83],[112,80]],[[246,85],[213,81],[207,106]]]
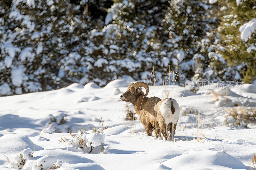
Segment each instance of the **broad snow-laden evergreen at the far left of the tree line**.
[[1,83],[11,94],[74,82],[80,55],[72,51],[86,30],[76,6],[67,0],[13,1],[1,19]]

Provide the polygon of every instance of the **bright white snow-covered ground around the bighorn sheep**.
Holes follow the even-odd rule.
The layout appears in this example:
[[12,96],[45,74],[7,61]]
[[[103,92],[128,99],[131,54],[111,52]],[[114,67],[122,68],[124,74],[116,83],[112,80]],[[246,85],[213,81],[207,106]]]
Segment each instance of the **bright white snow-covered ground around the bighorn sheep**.
[[[175,142],[171,142],[147,136],[138,119],[124,120],[126,103],[119,96],[129,83],[117,79],[104,88],[72,84],[1,97],[0,169],[10,168],[5,156],[13,166],[20,165],[21,157],[26,159],[25,166],[20,165],[23,169],[249,169],[248,160],[256,152],[256,129],[230,128],[223,121],[231,107],[256,107],[255,85],[198,93],[178,85],[151,86],[149,97],[171,97],[181,107]],[[92,128],[102,129],[100,119],[102,128],[109,128],[97,135]],[[68,131],[87,144],[92,142],[95,149],[89,153],[90,144],[76,148],[67,141],[74,139]]]

